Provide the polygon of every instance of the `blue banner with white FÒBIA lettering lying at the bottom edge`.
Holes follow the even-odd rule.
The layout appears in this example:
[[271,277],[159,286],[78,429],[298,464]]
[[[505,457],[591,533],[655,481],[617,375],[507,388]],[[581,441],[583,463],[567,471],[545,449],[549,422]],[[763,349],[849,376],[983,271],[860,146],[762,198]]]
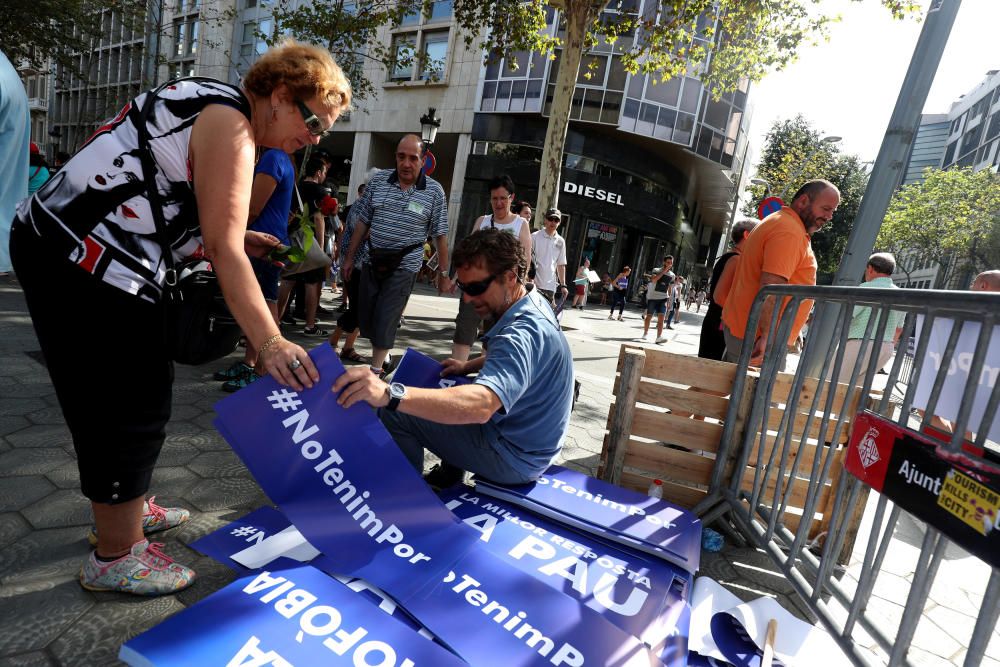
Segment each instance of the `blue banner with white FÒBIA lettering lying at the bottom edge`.
[[464,664],[308,565],[238,579],[129,640],[118,657],[143,667]]

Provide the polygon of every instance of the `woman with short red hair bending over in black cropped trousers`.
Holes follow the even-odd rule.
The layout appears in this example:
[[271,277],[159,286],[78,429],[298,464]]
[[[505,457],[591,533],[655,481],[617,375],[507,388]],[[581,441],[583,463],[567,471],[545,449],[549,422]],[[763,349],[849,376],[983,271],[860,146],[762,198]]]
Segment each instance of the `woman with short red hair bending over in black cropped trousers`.
[[[147,120],[139,110],[150,100]],[[84,588],[163,595],[195,578],[147,537],[189,516],[146,500],[174,378],[164,246],[178,262],[211,257],[258,367],[296,391],[319,379],[305,350],[282,338],[254,278],[248,255],[263,257],[279,241],[248,231],[247,210],[257,148],[318,144],[350,103],[329,52],[288,41],[263,54],[242,87],[192,78],[139,95],[19,207],[11,254],[94,513]],[[144,121],[153,173],[138,157]],[[162,246],[153,240],[152,188],[170,202]],[[94,361],[85,370],[81,354]]]

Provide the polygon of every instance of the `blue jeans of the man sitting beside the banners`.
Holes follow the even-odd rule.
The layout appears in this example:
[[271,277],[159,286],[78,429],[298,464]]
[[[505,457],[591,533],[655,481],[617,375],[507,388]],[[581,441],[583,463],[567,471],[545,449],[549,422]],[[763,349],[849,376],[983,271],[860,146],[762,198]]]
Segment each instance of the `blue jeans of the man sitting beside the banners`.
[[423,471],[424,449],[429,449],[445,463],[500,484],[524,484],[537,477],[512,470],[500,457],[494,444],[499,436],[490,423],[439,424],[385,408],[378,416],[417,472]]

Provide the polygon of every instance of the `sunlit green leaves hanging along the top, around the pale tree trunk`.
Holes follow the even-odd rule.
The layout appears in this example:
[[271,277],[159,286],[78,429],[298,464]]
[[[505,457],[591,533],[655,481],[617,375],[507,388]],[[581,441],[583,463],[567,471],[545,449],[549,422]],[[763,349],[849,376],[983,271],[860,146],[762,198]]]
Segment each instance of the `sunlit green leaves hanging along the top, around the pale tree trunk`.
[[[909,0],[881,0],[894,15],[918,9]],[[748,78],[759,80],[792,62],[806,44],[824,39],[831,22],[816,7],[821,0],[661,0],[659,11],[635,11],[635,0],[453,0],[461,39],[478,44],[488,59],[518,52],[553,54],[559,38],[545,34],[549,6],[567,14],[583,13],[589,25],[584,49],[601,41],[614,44],[625,69],[651,73],[657,81],[700,76],[716,96]],[[429,12],[430,0],[336,0],[277,3],[276,34],[327,45],[345,67],[359,99],[376,93],[365,72],[366,61],[386,71],[397,65],[422,65],[412,49],[394,52],[377,39],[382,26],[398,25],[413,12]],[[589,65],[588,65],[589,66]],[[586,74],[585,74],[586,76]],[[575,73],[574,73],[575,78]]]

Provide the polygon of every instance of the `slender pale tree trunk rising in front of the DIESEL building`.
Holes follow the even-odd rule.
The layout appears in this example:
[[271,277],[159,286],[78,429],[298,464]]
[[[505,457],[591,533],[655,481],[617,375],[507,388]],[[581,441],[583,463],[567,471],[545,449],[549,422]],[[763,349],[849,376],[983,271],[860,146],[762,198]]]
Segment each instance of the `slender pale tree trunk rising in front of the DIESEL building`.
[[[563,147],[569,130],[569,113],[573,105],[576,77],[583,60],[583,41],[587,26],[594,18],[595,5],[588,0],[567,0],[562,8],[566,21],[566,41],[563,43],[559,59],[559,75],[556,77],[555,95],[549,112],[549,125],[545,131],[545,146],[542,149],[542,168],[538,183],[538,198],[535,210],[559,205],[559,177],[562,172]],[[538,216],[541,219],[542,216]]]

